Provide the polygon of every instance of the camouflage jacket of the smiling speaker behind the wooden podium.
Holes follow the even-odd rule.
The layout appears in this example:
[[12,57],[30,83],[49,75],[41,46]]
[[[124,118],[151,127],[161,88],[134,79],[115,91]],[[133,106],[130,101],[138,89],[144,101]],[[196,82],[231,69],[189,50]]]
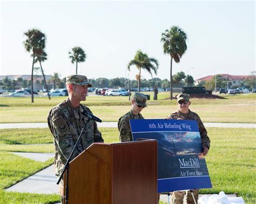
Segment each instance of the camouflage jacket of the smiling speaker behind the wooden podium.
[[[87,122],[87,117],[81,113],[83,110],[91,112],[91,110],[83,104],[80,104],[79,111],[77,112],[71,107],[70,100],[67,99],[56,105],[56,107],[52,108],[49,112],[48,126],[54,139],[54,163],[57,176],[62,172],[63,167],[77,142],[80,132]],[[104,140],[102,138],[102,133],[100,133],[97,128],[96,122],[90,120],[80,138],[80,142],[73,152],[71,160],[78,156],[79,153],[84,151],[93,142],[103,143]]]

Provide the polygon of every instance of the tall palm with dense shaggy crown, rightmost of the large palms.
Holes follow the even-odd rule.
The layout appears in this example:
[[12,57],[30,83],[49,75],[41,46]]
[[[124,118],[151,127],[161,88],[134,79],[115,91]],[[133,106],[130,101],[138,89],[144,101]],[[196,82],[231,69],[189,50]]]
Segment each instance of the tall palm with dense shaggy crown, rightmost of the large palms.
[[186,45],[187,35],[178,26],[172,26],[170,30],[166,30],[161,34],[161,42],[163,42],[163,48],[165,54],[170,54],[171,57],[171,72],[170,72],[170,99],[172,100],[172,59],[176,63],[180,61],[180,58],[187,50]]

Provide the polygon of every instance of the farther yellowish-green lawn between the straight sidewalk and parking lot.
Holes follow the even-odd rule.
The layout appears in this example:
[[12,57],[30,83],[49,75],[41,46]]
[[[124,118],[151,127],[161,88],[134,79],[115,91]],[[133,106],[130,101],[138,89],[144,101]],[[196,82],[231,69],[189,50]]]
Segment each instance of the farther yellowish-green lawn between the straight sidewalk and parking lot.
[[[164,100],[168,93],[159,94],[157,101],[147,102],[142,112],[145,118],[165,118],[177,110],[176,100]],[[255,123],[256,94],[224,95],[225,99],[191,99],[191,110],[197,112],[204,122]],[[35,103],[28,97],[2,97],[0,101],[0,123],[46,122],[49,111],[66,97],[38,97]],[[105,122],[118,121],[130,110],[125,96],[89,96],[85,102]]]

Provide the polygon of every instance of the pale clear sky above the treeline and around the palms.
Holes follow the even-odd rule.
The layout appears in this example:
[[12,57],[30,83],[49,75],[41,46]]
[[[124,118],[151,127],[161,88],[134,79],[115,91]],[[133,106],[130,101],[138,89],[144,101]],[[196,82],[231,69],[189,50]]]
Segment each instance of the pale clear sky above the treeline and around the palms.
[[[45,74],[75,74],[68,52],[80,46],[87,59],[78,73],[88,78],[134,79],[137,68],[128,72],[127,64],[140,49],[159,60],[153,77],[170,79],[170,57],[160,38],[173,25],[188,37],[173,73],[199,79],[255,70],[254,1],[2,1],[0,75],[31,74],[22,41],[25,31],[36,28],[47,37]],[[142,76],[151,78],[145,71]]]

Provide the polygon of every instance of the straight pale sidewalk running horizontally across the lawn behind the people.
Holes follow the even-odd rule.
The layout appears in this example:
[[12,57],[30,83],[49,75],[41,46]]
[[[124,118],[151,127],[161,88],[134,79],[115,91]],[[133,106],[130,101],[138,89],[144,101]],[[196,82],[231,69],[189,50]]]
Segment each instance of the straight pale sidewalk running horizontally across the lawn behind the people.
[[[117,128],[117,122],[97,123],[99,128]],[[213,128],[256,128],[256,123],[204,123]],[[0,129],[9,128],[48,128],[47,123],[0,123]]]

